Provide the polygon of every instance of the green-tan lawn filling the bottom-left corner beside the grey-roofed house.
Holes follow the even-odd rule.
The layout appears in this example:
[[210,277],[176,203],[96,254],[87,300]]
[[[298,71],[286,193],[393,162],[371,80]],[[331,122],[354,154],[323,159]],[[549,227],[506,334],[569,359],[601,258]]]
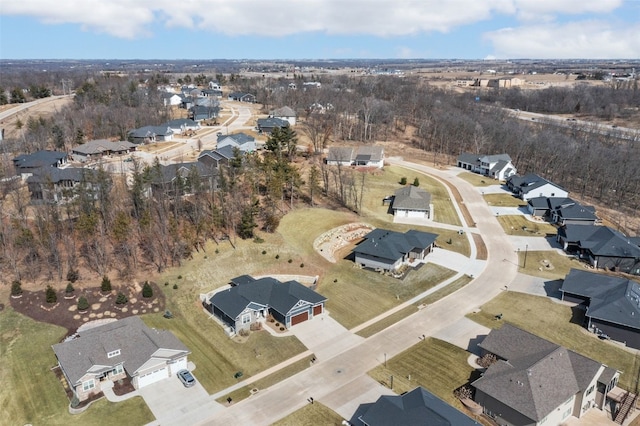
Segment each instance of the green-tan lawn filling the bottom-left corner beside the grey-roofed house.
[[51,368],[56,358],[51,345],[66,334],[63,328],[40,323],[5,307],[0,314],[0,404],[3,420],[11,425],[142,425],[154,420],[142,398],[112,404],[95,402],[87,411],[71,415],[62,383]]

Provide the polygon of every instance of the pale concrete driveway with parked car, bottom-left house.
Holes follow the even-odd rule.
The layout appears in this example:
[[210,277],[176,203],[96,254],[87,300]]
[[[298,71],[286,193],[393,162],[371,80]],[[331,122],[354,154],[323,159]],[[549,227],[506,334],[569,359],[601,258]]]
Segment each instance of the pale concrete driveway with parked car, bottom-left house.
[[[198,380],[196,374],[194,377]],[[156,417],[156,424],[163,425],[175,424],[178,418],[209,400],[209,394],[199,381],[195,386],[185,388],[176,376],[145,386],[138,392]]]

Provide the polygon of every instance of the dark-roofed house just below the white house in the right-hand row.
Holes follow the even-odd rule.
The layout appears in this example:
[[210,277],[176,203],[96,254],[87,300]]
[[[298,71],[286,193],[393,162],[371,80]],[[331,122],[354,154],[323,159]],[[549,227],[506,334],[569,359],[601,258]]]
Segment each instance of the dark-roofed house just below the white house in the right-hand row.
[[527,201],[531,215],[551,223],[564,225],[593,225],[598,221],[595,208],[582,206],[571,198],[534,197]]

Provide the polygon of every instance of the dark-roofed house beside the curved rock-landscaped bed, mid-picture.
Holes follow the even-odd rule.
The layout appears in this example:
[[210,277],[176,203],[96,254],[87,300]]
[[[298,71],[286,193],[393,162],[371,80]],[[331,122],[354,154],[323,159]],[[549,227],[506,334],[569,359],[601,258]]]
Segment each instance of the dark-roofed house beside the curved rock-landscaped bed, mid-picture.
[[403,265],[425,260],[435,246],[437,234],[409,230],[400,233],[374,229],[354,249],[355,263],[365,268],[397,271]]

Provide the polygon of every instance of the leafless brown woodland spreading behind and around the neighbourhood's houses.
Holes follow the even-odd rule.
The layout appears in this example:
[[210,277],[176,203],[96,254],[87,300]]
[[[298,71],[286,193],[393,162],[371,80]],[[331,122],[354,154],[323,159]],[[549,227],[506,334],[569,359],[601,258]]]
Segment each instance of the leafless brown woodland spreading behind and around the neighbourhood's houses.
[[[0,178],[15,174],[11,159],[18,154],[70,151],[97,138],[126,140],[133,128],[171,119],[156,89],[163,78],[75,76],[70,107],[49,119],[29,117],[21,137],[2,142]],[[15,81],[4,84],[9,83],[19,87]],[[46,82],[32,84],[46,87]],[[31,206],[26,189],[19,191],[17,180],[4,179],[0,268],[5,276],[60,280],[81,266],[98,275],[117,271],[121,277],[149,267],[162,271],[202,250],[206,240],[253,238],[256,227],[273,232],[298,204],[323,200],[357,212],[366,173],[327,166],[322,150],[347,141],[384,145],[403,141],[406,134],[407,144],[434,153],[434,163],[462,152],[507,153],[520,174],[540,174],[626,214],[640,209],[640,141],[577,124],[517,120],[495,108],[580,114],[583,120],[628,119],[640,114],[637,84],[465,94],[394,76],[323,77],[322,87],[307,90],[281,90],[286,81],[237,76],[231,84],[232,90],[257,94],[265,112],[290,106],[298,111],[299,124],[275,131],[263,153],[237,153],[217,174],[217,187],[193,169],[168,188],[159,164],[135,163],[129,185],[99,168],[76,188],[73,202]],[[310,141],[309,152],[296,149],[300,136]]]

